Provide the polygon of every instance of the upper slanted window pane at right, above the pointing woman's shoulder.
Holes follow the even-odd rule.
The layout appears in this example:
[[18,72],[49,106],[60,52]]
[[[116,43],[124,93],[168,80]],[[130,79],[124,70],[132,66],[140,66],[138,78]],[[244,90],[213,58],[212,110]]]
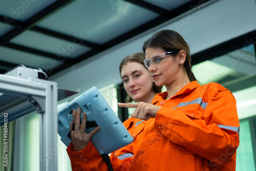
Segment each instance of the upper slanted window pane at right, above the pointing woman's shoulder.
[[[233,88],[231,92],[244,89],[237,87],[236,83],[256,77],[254,46],[248,45],[211,60],[205,60],[194,65],[193,72],[202,84],[218,82],[224,87]],[[252,85],[251,83],[255,82],[250,82],[248,86]]]

